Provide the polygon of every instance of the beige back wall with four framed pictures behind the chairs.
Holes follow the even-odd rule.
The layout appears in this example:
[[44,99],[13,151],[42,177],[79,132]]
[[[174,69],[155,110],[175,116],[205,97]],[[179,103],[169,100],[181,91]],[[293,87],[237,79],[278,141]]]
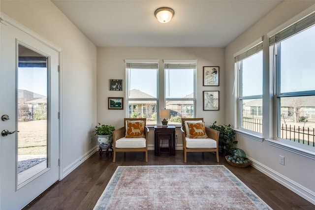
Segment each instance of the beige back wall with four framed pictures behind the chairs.
[[[126,98],[126,65],[125,59],[159,60],[159,75],[164,75],[163,60],[197,60],[197,105],[196,117],[204,118],[206,126],[214,121],[224,122],[224,49],[223,48],[150,48],[150,47],[117,47],[97,48],[97,122],[109,124],[116,128],[123,126],[126,117],[126,102],[124,110],[108,110],[108,97]],[[203,66],[220,66],[220,86],[203,86]],[[160,77],[161,78],[161,77]],[[123,79],[123,91],[109,90],[109,79]],[[161,79],[163,80],[163,79]],[[159,94],[163,93],[163,83]],[[203,111],[202,91],[220,91],[220,110]],[[180,133],[179,130],[176,131]],[[182,144],[178,135],[178,144]],[[149,147],[154,146],[154,130],[150,131]]]

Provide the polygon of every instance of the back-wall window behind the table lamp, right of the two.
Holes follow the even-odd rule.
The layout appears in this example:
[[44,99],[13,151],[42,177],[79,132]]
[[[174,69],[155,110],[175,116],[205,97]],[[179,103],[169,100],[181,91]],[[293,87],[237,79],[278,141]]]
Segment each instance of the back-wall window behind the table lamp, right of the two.
[[169,124],[181,124],[181,118],[195,116],[196,61],[164,60],[165,104],[171,110]]

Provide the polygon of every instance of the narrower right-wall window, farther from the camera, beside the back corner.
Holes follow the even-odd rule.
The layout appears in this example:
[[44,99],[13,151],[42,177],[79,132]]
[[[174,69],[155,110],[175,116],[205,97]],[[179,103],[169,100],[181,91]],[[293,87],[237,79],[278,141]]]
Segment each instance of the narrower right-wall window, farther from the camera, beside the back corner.
[[235,57],[239,70],[239,127],[262,133],[262,42]]

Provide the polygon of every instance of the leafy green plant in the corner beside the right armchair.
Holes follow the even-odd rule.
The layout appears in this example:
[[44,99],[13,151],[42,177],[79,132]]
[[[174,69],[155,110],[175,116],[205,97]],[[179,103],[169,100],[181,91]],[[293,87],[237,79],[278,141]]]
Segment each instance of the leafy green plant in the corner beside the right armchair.
[[237,144],[237,141],[235,141],[235,130],[231,128],[231,125],[217,125],[217,121],[215,121],[209,127],[220,131],[219,153],[224,156],[231,154],[232,151],[236,149]]

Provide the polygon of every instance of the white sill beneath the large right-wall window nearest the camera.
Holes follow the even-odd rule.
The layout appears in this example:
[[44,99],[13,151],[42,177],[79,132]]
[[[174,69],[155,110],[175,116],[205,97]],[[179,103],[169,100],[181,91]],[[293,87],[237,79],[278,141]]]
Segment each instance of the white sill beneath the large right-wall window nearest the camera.
[[290,145],[290,144],[287,144],[287,143],[283,143],[281,141],[276,141],[276,140],[273,140],[273,139],[266,139],[266,141],[271,146],[274,146],[274,147],[277,147],[277,148],[280,148],[280,149],[283,149],[283,150],[287,150],[287,151],[293,152],[295,154],[299,154],[299,155],[302,155],[304,157],[308,157],[308,158],[311,158],[311,159],[315,160],[315,151],[306,150],[306,149],[303,149],[303,148],[300,148],[300,147],[296,147],[294,145]]

